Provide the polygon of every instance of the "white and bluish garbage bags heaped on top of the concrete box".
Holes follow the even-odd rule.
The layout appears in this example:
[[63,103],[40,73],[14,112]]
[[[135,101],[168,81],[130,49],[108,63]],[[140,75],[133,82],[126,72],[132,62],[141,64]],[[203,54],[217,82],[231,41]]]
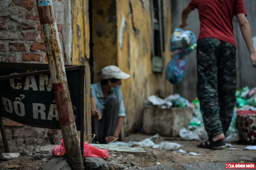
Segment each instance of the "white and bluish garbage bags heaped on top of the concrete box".
[[148,100],[145,102],[145,106],[157,106],[160,108],[189,108],[191,104],[187,99],[180,96],[179,94],[174,94],[161,99],[155,95],[149,96]]

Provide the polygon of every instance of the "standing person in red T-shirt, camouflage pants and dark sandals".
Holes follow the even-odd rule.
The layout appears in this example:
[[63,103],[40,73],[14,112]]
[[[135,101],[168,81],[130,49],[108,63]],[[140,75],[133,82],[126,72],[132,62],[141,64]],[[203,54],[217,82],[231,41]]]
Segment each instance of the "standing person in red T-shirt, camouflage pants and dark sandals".
[[198,147],[225,145],[236,102],[236,42],[233,17],[237,17],[253,67],[256,53],[243,0],[191,0],[182,11],[181,28],[189,13],[199,11],[200,34],[197,48],[197,94],[209,140]]

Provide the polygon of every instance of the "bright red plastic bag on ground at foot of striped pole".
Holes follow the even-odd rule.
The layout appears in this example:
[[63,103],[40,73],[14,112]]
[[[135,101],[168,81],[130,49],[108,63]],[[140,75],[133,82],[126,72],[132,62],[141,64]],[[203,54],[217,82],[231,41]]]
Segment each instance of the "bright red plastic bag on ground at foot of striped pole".
[[[63,139],[61,140],[61,144],[63,144]],[[80,140],[79,140],[80,145]],[[65,147],[64,145],[56,145],[54,149],[51,150],[52,156],[61,156],[65,154]],[[86,142],[84,142],[84,157],[98,157],[105,159],[106,157],[110,157],[107,153],[107,149],[99,149],[94,147]]]

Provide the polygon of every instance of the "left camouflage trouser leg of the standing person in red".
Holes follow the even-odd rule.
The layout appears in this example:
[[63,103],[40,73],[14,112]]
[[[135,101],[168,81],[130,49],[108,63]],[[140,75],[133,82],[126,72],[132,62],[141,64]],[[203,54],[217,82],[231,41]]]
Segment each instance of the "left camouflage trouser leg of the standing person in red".
[[[198,41],[197,47],[197,94],[205,130],[209,138],[223,133],[220,115],[218,85],[218,57],[221,54],[221,41],[204,38]],[[214,138],[213,138],[214,140]],[[214,140],[215,142],[215,140]]]

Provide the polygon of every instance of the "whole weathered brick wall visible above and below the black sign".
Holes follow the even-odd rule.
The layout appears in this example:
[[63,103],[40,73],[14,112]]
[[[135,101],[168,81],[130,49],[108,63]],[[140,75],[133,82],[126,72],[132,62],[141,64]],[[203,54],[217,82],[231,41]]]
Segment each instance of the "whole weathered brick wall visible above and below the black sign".
[[[56,22],[65,60],[64,0],[53,0]],[[42,29],[35,0],[0,0],[0,61],[47,63]],[[29,146],[56,143],[61,132],[24,126],[4,119],[11,152],[28,154]],[[30,148],[31,149],[31,148]],[[0,135],[0,153],[4,152]]]

